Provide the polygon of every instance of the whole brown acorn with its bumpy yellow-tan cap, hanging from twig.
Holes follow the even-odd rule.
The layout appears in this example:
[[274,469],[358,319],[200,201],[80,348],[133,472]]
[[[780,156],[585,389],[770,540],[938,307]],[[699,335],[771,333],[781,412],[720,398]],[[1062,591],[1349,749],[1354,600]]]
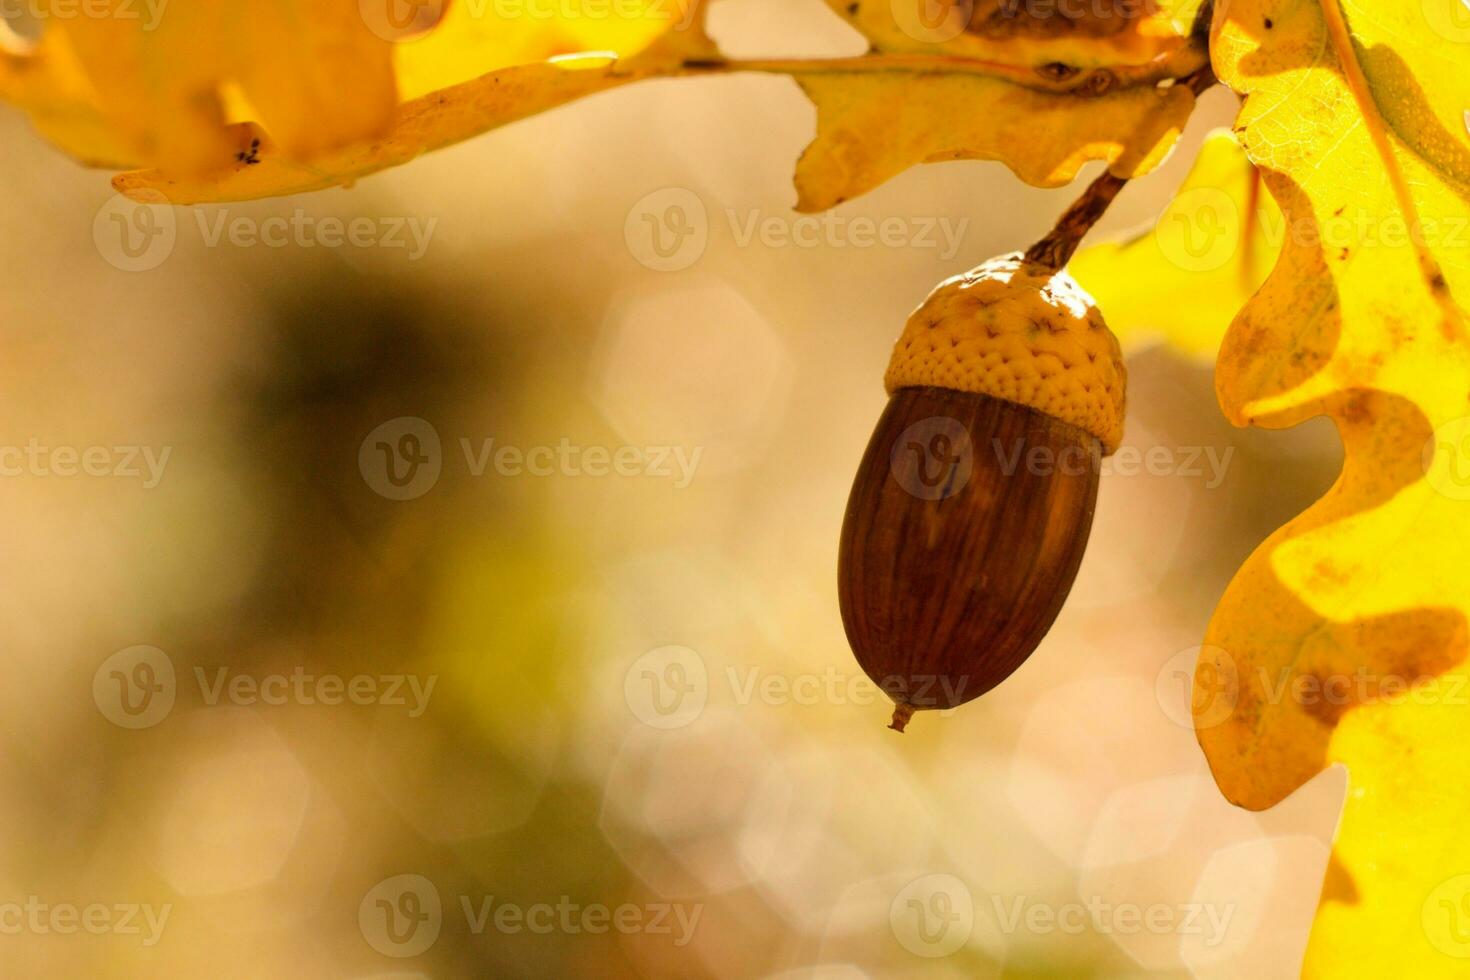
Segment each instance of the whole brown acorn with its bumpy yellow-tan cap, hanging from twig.
[[842,624],[895,704],[954,708],[1036,649],[1086,550],[1126,370],[1092,298],[1020,253],[948,279],[888,366],[853,483]]

